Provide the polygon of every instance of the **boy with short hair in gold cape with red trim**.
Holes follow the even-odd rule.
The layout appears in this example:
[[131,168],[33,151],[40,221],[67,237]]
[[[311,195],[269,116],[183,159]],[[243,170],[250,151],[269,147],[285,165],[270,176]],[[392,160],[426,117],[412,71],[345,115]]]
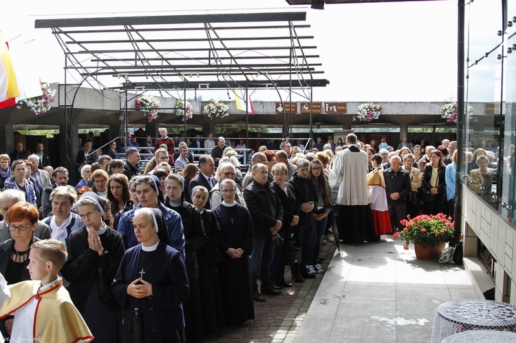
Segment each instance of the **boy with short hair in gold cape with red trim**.
[[90,342],[94,339],[58,276],[65,264],[66,247],[56,239],[32,244],[31,281],[9,286],[0,318],[14,316],[10,340],[14,342]]

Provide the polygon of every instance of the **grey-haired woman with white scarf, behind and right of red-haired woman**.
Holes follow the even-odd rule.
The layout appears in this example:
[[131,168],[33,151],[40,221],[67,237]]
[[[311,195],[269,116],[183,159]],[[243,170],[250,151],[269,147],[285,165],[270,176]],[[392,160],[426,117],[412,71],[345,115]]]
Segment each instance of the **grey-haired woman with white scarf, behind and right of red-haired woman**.
[[75,201],[77,193],[72,186],[58,186],[50,193],[52,216],[43,219],[43,223],[50,226],[52,238],[63,244],[66,244],[72,231],[84,225],[80,217],[72,212]]

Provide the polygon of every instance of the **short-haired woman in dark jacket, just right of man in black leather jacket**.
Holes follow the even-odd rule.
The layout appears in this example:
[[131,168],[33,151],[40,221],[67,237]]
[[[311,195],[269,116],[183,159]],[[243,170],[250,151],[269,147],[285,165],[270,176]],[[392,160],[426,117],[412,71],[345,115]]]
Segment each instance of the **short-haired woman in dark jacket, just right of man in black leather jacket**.
[[[278,234],[281,236],[284,243],[288,243],[291,236],[294,236],[294,241],[299,241],[298,233],[295,230],[295,226],[299,221],[299,203],[297,203],[294,187],[286,183],[287,175],[288,168],[286,164],[278,163],[272,167],[274,182],[270,184],[270,187],[276,191],[279,201],[281,201],[281,205],[283,206],[283,222]],[[292,284],[287,283],[285,280],[285,264],[281,261],[285,247],[285,245],[275,247],[272,263],[270,263],[269,281],[272,287],[276,289],[292,287]],[[297,283],[303,282],[303,278],[299,275],[299,265],[291,265],[290,273],[292,280]]]

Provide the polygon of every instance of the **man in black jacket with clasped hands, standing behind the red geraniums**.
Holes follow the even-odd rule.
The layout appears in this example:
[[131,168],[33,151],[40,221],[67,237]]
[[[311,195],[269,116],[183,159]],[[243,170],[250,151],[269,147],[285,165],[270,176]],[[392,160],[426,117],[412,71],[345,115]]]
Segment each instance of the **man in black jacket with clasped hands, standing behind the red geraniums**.
[[412,190],[410,173],[401,167],[401,157],[391,157],[391,166],[383,170],[385,192],[387,193],[387,207],[391,219],[391,228],[403,230],[402,219],[407,217],[407,201],[405,200]]

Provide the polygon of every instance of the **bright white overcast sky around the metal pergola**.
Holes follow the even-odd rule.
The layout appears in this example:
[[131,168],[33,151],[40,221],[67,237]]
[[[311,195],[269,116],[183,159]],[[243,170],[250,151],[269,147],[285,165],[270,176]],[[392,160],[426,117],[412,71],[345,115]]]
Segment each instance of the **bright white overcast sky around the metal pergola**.
[[[32,52],[24,55],[44,82],[64,82],[64,56],[50,30],[34,29],[36,19],[300,9],[285,0],[27,0],[10,2],[10,7],[0,13],[3,37],[11,45],[34,40]],[[455,98],[456,1],[326,4],[325,10],[305,7],[305,11],[325,77],[330,80],[327,87],[314,88],[314,101],[442,102]],[[224,96],[219,98],[224,100]],[[274,96],[273,91],[259,90],[253,100]]]

